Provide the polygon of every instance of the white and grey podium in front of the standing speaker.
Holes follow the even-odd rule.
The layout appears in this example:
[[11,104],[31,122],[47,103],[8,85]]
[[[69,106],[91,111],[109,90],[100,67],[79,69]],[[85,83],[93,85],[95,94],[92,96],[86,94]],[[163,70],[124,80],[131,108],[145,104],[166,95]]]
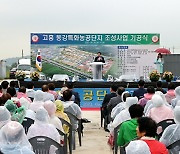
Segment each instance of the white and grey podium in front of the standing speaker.
[[90,65],[92,66],[93,81],[103,81],[102,70],[104,64],[105,63],[102,62],[90,63]]

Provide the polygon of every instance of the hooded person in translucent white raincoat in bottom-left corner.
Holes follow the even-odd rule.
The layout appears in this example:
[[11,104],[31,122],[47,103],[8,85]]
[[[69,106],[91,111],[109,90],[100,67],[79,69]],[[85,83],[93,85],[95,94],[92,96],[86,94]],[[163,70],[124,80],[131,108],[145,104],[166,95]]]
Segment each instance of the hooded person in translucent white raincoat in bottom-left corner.
[[10,121],[2,127],[0,148],[3,154],[34,154],[23,126],[16,121]]

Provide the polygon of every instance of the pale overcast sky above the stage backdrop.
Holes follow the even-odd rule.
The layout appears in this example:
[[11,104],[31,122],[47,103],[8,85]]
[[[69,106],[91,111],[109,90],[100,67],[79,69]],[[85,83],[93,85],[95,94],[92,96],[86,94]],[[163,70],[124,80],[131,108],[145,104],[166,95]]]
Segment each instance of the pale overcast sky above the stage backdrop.
[[160,33],[180,53],[180,0],[0,0],[0,59],[30,55],[32,32]]

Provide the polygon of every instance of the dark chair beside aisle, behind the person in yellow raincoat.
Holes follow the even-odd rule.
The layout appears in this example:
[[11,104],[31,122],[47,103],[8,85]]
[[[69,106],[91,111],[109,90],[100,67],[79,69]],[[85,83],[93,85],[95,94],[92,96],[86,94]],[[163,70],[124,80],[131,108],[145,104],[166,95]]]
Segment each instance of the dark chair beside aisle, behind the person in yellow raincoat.
[[68,144],[69,144],[69,154],[72,154],[72,125],[66,120],[59,117],[62,122],[62,125],[67,125],[69,127],[69,136],[68,136]]

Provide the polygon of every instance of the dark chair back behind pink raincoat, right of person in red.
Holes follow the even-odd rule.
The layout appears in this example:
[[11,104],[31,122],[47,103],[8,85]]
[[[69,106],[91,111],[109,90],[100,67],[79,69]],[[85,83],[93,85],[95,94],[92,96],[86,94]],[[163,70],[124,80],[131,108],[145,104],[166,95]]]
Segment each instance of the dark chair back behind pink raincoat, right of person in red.
[[175,124],[174,119],[166,119],[163,120],[161,122],[159,122],[157,124],[157,128],[162,128],[162,132],[160,132],[160,134],[158,134],[158,138],[160,138],[162,136],[162,133],[164,132],[164,130],[166,129],[166,127],[168,127],[169,125]]

